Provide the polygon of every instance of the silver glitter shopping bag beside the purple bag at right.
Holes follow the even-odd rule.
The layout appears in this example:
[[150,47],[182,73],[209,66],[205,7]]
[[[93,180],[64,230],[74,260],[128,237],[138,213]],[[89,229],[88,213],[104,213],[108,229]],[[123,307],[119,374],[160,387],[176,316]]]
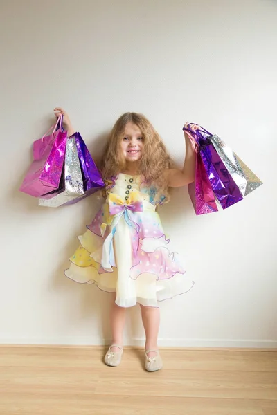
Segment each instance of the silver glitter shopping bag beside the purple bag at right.
[[233,181],[239,187],[242,196],[256,190],[257,187],[262,185],[262,181],[254,174],[247,165],[228,147],[221,138],[217,136],[211,136],[211,142],[215,151],[222,159],[226,169],[231,174]]

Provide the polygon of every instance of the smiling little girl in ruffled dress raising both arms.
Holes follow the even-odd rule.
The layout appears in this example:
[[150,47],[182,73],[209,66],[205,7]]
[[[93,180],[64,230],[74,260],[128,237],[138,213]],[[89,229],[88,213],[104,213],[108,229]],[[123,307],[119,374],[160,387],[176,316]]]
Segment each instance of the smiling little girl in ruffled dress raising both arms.
[[[71,136],[75,130],[62,108]],[[125,113],[111,130],[99,166],[105,181],[105,203],[80,246],[70,258],[67,277],[96,283],[114,293],[111,306],[112,343],[105,363],[118,366],[123,355],[127,307],[141,306],[145,329],[145,369],[157,371],[162,360],[157,346],[158,302],[186,291],[185,270],[168,249],[157,205],[169,201],[168,188],[188,185],[195,177],[195,151],[185,133],[186,158],[182,170],[173,169],[170,156],[152,124],[139,113]]]

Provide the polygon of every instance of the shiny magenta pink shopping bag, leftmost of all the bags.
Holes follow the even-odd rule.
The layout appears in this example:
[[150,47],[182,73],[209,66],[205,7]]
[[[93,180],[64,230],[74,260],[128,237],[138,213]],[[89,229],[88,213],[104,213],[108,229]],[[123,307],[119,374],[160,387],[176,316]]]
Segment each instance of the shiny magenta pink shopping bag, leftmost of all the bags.
[[33,163],[19,187],[21,192],[39,197],[59,187],[67,136],[62,129],[62,118],[58,118],[54,129],[51,127],[53,132],[49,136],[33,143]]

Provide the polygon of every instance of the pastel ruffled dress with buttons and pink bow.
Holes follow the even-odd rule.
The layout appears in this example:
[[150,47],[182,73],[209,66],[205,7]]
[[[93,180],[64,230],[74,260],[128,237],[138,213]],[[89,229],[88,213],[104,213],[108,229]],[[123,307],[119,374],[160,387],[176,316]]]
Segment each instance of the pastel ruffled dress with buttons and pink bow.
[[170,241],[156,212],[153,188],[140,176],[119,174],[65,274],[75,282],[115,292],[116,304],[158,306],[188,291],[184,266],[170,252]]

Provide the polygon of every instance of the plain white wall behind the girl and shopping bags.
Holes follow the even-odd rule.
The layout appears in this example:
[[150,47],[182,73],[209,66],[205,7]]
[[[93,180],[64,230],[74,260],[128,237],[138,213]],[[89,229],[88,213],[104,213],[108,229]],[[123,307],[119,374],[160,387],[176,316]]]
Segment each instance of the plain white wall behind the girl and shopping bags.
[[[139,111],[180,166],[189,120],[265,182],[224,212],[195,216],[186,189],[160,210],[195,281],[161,304],[161,344],[277,347],[276,21],[275,0],[1,3],[0,342],[109,341],[107,295],[63,276],[100,200],[51,210],[17,190],[60,105],[94,156]],[[141,344],[129,314],[126,342]]]

